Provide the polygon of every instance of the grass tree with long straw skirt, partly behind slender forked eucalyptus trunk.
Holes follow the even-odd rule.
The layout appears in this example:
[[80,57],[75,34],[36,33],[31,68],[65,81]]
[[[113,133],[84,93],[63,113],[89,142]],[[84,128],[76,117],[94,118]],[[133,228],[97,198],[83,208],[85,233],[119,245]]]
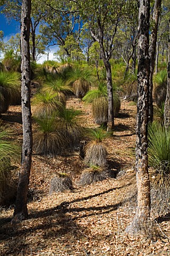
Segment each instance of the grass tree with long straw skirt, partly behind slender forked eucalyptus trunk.
[[[114,116],[117,116],[121,101],[115,91],[113,92],[113,99]],[[92,116],[95,123],[103,124],[108,122],[107,84],[105,82],[100,82],[97,89],[88,91],[82,100],[86,103],[92,103]]]

